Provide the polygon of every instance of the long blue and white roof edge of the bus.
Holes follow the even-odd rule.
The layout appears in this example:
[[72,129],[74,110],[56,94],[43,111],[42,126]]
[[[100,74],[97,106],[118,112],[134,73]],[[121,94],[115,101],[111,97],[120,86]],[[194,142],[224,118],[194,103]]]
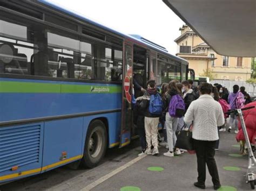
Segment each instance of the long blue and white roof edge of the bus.
[[130,34],[129,35],[129,34],[124,34],[122,32],[118,32],[116,30],[110,29],[109,27],[104,26],[102,24],[99,24],[99,23],[97,23],[97,22],[95,22],[95,21],[93,21],[91,19],[88,19],[85,16],[78,15],[75,11],[73,11],[71,9],[63,8],[61,5],[59,5],[57,3],[54,3],[54,2],[51,2],[50,0],[39,0],[39,2],[41,2],[41,3],[45,4],[45,5],[50,6],[51,8],[57,9],[59,11],[62,11],[62,12],[66,13],[66,14],[68,14],[70,16],[76,17],[78,19],[82,19],[85,22],[90,23],[90,24],[95,25],[95,26],[98,26],[98,27],[100,27],[100,28],[102,28],[102,29],[104,29],[106,31],[112,32],[114,34],[117,34],[120,37],[123,37],[123,38],[126,38],[126,39],[130,39],[132,41],[135,41],[135,43],[138,43],[138,44],[143,44],[145,46],[149,46],[150,48],[152,48],[152,49],[154,49],[154,50],[156,50],[156,51],[158,51],[160,53],[163,53],[163,54],[165,54],[167,56],[170,56],[170,57],[172,57],[174,59],[177,59],[177,60],[180,60],[180,61],[183,61],[183,62],[187,62],[187,60],[182,59],[179,56],[172,55],[172,54],[168,53],[168,51],[167,51],[167,49],[165,47],[160,46],[160,45],[158,45],[156,43],[153,43],[152,41],[147,40],[147,39],[145,39],[145,38],[143,38],[143,37],[141,37],[141,36],[139,36],[137,34]]

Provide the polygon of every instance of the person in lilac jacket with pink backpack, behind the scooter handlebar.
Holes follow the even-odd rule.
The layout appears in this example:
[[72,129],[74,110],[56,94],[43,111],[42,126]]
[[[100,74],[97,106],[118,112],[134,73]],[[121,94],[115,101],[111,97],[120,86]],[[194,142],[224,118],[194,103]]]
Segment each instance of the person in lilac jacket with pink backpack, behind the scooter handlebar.
[[[239,91],[239,86],[238,85],[234,85],[233,86],[233,92],[230,93],[230,95],[228,96],[228,103],[230,104],[230,108],[231,109],[239,109],[239,108],[236,108],[235,106],[235,100],[237,100],[237,97],[240,96],[240,97],[244,97],[244,95]],[[232,125],[233,123],[235,122],[235,133],[238,133],[238,119],[237,119],[237,116],[232,113],[230,115],[230,126],[228,128],[228,132],[231,132],[231,129],[232,129]]]

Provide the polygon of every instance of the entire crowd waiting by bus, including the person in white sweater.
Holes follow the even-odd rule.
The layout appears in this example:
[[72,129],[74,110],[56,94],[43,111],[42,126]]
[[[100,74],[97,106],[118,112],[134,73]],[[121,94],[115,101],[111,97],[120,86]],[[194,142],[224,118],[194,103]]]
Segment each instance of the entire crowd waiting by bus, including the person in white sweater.
[[[167,157],[181,154],[176,147],[176,131],[184,126],[192,126],[192,139],[197,155],[197,182],[194,186],[205,189],[206,164],[212,176],[213,188],[221,187],[217,164],[214,159],[215,150],[219,145],[219,129],[224,127],[225,112],[230,109],[244,107],[251,102],[245,88],[233,86],[233,92],[228,93],[220,84],[203,83],[194,87],[193,81],[179,82],[172,80],[161,86],[160,93],[154,80],[149,80],[147,88],[141,88],[143,95],[136,98],[134,103],[134,124],[137,125],[144,154],[159,154],[158,151],[158,124],[164,130],[164,142],[168,151]],[[230,127],[237,116],[230,116]],[[223,128],[224,129],[224,128]]]

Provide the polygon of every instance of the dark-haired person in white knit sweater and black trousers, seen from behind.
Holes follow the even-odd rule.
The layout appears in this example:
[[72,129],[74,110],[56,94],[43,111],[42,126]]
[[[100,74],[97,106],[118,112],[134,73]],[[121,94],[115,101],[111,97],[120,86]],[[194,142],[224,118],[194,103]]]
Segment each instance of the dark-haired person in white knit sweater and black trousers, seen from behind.
[[225,123],[221,105],[212,96],[212,85],[203,83],[200,86],[200,97],[188,107],[184,122],[193,122],[192,138],[197,154],[198,181],[194,186],[205,189],[206,164],[212,176],[214,189],[221,187],[218,168],[214,159],[215,145],[219,139],[218,126]]

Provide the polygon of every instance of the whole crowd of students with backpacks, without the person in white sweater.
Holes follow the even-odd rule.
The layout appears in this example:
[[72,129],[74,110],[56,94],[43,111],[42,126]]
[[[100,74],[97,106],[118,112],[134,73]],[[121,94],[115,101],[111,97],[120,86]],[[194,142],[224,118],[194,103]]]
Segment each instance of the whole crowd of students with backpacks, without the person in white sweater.
[[[212,86],[212,85],[211,85]],[[164,153],[166,157],[174,157],[183,153],[183,150],[175,147],[177,137],[176,132],[182,128],[188,128],[191,124],[184,123],[184,115],[190,104],[199,98],[199,86],[193,86],[192,80],[179,82],[172,80],[169,83],[163,83],[160,90],[156,87],[154,80],[146,83],[146,89],[139,86],[136,82],[134,88],[136,101],[134,103],[134,125],[137,126],[140,137],[140,145],[144,154],[159,154],[158,147],[164,146],[168,149]],[[233,92],[215,83],[212,86],[211,96],[220,103],[223,112],[230,109],[238,109],[251,102],[250,95],[245,91],[245,87],[234,85]],[[184,107],[184,108],[183,108]],[[224,114],[225,124],[218,126],[219,131],[226,131],[226,119],[228,115]],[[163,129],[163,140],[158,141],[159,123]],[[235,123],[235,133],[238,132],[237,116],[231,114],[228,132],[231,132],[232,125]],[[219,140],[215,145],[215,150],[219,148]]]

